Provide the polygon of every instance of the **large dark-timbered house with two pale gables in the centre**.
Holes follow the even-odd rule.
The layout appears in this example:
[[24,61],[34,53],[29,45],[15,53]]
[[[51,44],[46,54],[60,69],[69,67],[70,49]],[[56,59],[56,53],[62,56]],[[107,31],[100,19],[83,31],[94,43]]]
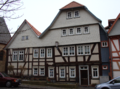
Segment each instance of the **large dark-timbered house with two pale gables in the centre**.
[[[15,75],[21,74],[19,66],[23,66],[24,76],[36,79],[48,77],[80,85],[99,83],[100,76],[108,73],[102,70],[108,63],[102,65],[101,59],[106,49],[101,41],[106,37],[101,20],[73,1],[60,9],[42,34],[25,20],[5,47],[8,66],[14,66]],[[104,60],[108,62],[108,58]]]

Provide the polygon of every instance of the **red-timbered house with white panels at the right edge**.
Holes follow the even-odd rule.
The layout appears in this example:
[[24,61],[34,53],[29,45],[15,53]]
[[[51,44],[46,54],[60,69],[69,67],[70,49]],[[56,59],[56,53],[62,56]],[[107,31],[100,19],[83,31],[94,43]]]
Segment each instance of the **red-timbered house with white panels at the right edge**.
[[120,76],[120,14],[116,19],[108,20],[109,36],[109,58],[110,58],[110,76],[115,78]]

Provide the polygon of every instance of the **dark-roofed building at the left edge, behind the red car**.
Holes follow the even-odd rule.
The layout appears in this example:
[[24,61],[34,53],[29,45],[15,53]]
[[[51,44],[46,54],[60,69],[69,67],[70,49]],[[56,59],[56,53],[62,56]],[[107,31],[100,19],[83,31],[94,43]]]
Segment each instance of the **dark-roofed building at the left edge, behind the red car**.
[[6,51],[3,50],[3,48],[6,46],[10,38],[11,36],[5,20],[0,17],[0,72],[5,72],[6,69]]

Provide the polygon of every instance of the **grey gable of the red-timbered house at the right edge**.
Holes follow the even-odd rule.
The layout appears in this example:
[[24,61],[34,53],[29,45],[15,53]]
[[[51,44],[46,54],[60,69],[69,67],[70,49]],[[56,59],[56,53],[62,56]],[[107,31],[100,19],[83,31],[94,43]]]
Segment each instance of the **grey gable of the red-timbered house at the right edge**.
[[120,19],[117,20],[114,27],[111,29],[109,36],[120,35]]

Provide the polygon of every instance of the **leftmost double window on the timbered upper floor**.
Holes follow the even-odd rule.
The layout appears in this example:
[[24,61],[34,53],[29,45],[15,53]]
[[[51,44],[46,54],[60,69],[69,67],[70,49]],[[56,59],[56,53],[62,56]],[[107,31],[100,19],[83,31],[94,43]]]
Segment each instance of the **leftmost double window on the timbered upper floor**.
[[24,60],[24,50],[15,50],[13,51],[13,61],[23,61]]

